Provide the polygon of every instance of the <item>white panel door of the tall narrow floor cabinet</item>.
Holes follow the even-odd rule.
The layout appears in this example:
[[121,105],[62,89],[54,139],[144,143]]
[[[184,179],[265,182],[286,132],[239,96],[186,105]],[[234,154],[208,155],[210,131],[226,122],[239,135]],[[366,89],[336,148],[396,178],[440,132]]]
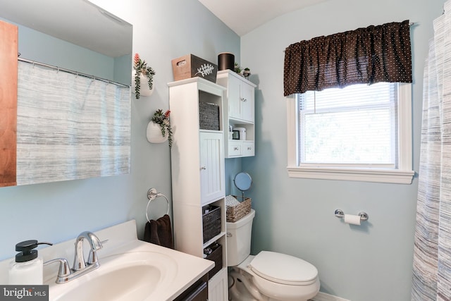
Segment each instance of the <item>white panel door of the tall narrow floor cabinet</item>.
[[225,196],[223,133],[200,132],[201,201],[209,204]]

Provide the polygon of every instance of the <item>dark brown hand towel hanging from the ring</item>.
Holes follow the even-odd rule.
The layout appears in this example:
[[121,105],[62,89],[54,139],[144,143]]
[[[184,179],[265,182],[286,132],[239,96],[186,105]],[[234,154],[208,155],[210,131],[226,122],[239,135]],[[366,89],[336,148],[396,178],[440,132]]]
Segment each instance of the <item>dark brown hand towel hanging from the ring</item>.
[[173,249],[174,242],[172,238],[171,218],[168,214],[154,221],[147,221],[144,228],[144,240]]

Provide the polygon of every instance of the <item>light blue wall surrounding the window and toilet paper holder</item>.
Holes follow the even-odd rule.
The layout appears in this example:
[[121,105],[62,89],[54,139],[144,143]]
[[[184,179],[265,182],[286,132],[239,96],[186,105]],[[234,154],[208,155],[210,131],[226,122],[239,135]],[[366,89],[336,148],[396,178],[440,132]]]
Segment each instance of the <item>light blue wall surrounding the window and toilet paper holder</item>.
[[[241,63],[257,87],[257,156],[252,174],[257,216],[252,251],[302,257],[319,269],[321,291],[352,301],[410,300],[418,179],[412,185],[288,178],[283,50],[320,35],[409,19],[414,67],[414,170],[419,166],[422,77],[432,21],[444,0],[329,0],[276,18],[241,39]],[[334,216],[366,211],[363,226]]]

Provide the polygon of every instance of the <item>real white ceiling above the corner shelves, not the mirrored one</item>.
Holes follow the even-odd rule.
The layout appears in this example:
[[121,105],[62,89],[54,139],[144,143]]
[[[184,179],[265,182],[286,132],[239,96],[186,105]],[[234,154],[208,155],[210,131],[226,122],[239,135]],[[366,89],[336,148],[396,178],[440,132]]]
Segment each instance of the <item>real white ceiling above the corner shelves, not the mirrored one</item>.
[[240,37],[264,23],[326,0],[199,0]]

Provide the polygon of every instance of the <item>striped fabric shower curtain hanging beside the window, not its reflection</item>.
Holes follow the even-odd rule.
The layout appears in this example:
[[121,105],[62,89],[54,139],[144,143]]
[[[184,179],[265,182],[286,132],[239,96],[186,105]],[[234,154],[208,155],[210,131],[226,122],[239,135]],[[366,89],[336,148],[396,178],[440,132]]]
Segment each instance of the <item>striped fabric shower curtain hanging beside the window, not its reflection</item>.
[[424,70],[412,300],[451,300],[451,0]]

